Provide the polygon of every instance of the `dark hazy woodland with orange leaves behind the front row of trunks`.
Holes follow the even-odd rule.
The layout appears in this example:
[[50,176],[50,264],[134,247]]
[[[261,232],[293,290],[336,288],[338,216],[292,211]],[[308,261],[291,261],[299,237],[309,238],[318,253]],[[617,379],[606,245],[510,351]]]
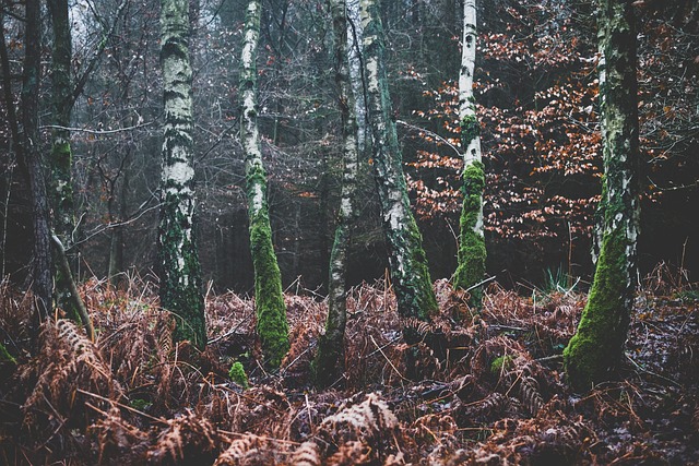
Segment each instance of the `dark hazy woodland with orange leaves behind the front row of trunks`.
[[[249,294],[253,274],[237,95],[246,2],[190,3],[203,275],[215,290]],[[696,271],[699,8],[692,1],[637,3],[641,275],[662,261]],[[602,170],[594,7],[572,0],[494,0],[478,8],[475,97],[487,174],[488,274],[507,287],[540,284],[546,275],[583,277],[584,283],[592,273],[591,231]],[[71,7],[74,75],[106,41],[71,123],[81,277],[145,276],[154,264],[163,113],[158,10],[150,0]],[[12,4],[3,4],[3,11],[9,91],[19,98],[23,23]],[[284,286],[323,294],[341,179],[331,22],[319,1],[266,0],[263,11],[260,127],[274,243]],[[455,123],[461,5],[403,0],[383,2],[382,13],[411,199],[433,277],[448,278],[457,265],[461,196]],[[49,40],[49,23],[43,24]],[[49,45],[43,50],[48,63]],[[43,73],[40,85],[46,103],[48,74]],[[7,113],[5,99],[0,112]],[[47,105],[39,123],[45,147],[50,117]],[[8,119],[0,124],[0,272],[23,283],[29,271],[32,214],[25,180],[9,152]],[[368,132],[363,134],[350,285],[381,277],[387,267],[370,143]]]

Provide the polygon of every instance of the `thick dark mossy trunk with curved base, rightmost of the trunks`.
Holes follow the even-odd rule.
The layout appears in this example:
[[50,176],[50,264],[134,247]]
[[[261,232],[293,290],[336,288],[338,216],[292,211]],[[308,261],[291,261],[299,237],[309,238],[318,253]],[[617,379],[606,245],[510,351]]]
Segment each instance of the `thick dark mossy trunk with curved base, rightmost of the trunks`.
[[599,21],[604,57],[602,243],[588,304],[564,350],[568,381],[580,391],[607,380],[620,361],[636,289],[640,170],[632,5],[602,0]]

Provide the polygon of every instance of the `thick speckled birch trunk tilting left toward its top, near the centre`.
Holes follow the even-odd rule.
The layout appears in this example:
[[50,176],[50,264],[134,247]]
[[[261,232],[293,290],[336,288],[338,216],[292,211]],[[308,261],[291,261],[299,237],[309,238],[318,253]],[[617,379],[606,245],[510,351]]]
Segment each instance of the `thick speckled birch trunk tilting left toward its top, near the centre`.
[[[398,310],[408,321],[429,321],[430,315],[437,312],[437,301],[422,246],[423,239],[407,198],[395,121],[390,115],[391,98],[384,64],[386,39],[378,2],[362,0],[360,15],[368,121],[374,134],[374,168]],[[408,342],[419,337],[414,326],[406,326],[403,335]]]

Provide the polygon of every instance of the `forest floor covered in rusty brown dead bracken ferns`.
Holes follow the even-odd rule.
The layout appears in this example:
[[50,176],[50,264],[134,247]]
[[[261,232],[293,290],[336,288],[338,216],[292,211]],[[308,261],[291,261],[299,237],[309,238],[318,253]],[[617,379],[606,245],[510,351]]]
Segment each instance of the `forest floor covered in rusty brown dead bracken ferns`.
[[616,379],[584,394],[560,354],[585,296],[560,286],[522,297],[491,284],[473,315],[437,282],[433,348],[402,343],[386,283],[353,288],[344,378],[321,391],[327,306],[312,294],[286,296],[292,349],[268,373],[237,295],[206,297],[199,353],[173,344],[150,285],[93,279],[96,342],[59,319],[29,357],[29,297],[4,284],[0,337],[16,363],[0,362],[0,464],[699,464],[699,292],[674,282],[663,267],[645,279]]

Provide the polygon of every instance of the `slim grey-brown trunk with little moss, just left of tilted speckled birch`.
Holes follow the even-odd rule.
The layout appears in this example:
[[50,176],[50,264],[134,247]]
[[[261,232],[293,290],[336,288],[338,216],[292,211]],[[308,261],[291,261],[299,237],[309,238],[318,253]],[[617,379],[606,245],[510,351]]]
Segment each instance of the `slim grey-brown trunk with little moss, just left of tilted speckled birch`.
[[347,59],[347,5],[345,0],[329,0],[334,33],[334,67],[337,104],[342,122],[342,192],[335,239],[330,255],[328,278],[328,320],[325,334],[318,342],[316,379],[320,385],[337,380],[344,368],[344,337],[346,324],[346,274],[350,232],[355,217],[354,199],[357,190],[357,123],[355,100],[350,81]]

